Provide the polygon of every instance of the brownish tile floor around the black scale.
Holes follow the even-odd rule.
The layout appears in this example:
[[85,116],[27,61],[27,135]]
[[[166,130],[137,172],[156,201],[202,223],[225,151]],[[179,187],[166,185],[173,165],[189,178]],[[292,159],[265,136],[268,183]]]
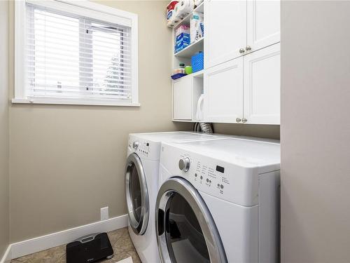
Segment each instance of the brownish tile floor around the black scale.
[[[139,255],[132,244],[127,227],[108,233],[109,241],[113,245],[114,257],[112,259],[102,260],[102,263],[115,263],[121,259],[132,257],[134,263],[141,263]],[[31,255],[13,259],[12,263],[65,263],[66,245],[56,248],[50,248]]]

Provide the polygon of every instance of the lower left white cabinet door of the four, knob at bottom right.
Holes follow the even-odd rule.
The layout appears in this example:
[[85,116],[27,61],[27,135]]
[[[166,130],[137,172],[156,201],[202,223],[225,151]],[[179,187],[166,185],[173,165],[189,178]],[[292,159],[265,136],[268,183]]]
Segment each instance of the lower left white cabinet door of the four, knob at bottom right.
[[204,72],[204,119],[236,123],[243,116],[243,57]]

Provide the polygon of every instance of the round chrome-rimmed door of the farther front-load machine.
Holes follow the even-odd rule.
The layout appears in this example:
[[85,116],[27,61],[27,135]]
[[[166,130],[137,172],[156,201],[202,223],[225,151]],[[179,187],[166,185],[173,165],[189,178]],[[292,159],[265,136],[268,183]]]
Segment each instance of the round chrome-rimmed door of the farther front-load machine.
[[144,168],[137,154],[127,157],[125,193],[130,226],[135,234],[143,235],[148,225],[149,201]]

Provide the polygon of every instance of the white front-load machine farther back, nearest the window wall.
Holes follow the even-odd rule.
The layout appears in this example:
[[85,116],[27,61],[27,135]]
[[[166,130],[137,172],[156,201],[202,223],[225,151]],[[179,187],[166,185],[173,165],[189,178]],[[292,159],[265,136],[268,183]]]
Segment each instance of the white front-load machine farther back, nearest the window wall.
[[160,261],[155,237],[155,198],[158,191],[160,144],[168,141],[209,140],[203,133],[134,133],[129,135],[125,190],[129,232],[144,263]]

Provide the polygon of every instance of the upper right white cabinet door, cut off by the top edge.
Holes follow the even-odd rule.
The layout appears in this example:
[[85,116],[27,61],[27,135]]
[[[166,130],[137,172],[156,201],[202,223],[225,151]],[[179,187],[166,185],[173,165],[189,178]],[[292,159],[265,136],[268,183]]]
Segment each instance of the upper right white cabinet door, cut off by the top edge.
[[279,0],[247,1],[247,45],[251,52],[280,41],[280,8]]

